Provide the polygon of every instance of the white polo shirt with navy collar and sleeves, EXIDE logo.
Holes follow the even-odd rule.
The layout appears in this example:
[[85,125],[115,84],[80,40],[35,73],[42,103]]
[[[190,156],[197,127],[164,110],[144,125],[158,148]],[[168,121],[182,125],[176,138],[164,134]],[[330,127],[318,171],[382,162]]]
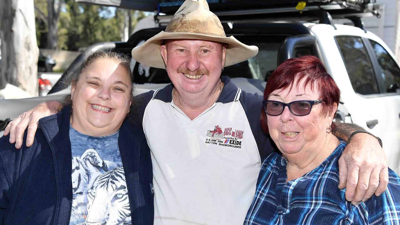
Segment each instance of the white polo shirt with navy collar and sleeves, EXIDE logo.
[[262,98],[227,77],[217,102],[190,120],[172,84],[142,95],[136,117],[151,150],[155,225],[243,224],[261,158],[273,151],[261,131]]

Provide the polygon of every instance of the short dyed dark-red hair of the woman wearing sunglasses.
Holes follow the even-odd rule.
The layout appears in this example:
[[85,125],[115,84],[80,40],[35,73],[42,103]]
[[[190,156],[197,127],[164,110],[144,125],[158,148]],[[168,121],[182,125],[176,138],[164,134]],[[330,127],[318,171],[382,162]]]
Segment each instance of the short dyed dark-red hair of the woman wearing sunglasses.
[[[340,90],[333,78],[326,72],[324,64],[315,56],[300,56],[290,58],[282,62],[272,73],[264,90],[264,100],[268,100],[269,95],[278,89],[293,88],[296,80],[305,79],[304,87],[315,83],[320,90],[320,98],[312,100],[322,100],[324,111],[332,112],[334,102],[339,105]],[[311,86],[311,90],[313,89]],[[295,87],[297,88],[297,87]],[[267,115],[264,108],[261,109],[261,127],[265,133],[268,131]],[[332,123],[332,130],[336,127]]]

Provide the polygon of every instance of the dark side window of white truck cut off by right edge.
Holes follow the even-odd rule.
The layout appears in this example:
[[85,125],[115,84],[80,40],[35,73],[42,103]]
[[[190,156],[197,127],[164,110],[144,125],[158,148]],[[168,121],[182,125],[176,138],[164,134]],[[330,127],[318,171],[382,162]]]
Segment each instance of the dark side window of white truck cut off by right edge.
[[400,69],[397,63],[382,45],[373,40],[370,40],[370,42],[382,71],[381,76],[386,92],[396,92],[396,89],[400,88]]

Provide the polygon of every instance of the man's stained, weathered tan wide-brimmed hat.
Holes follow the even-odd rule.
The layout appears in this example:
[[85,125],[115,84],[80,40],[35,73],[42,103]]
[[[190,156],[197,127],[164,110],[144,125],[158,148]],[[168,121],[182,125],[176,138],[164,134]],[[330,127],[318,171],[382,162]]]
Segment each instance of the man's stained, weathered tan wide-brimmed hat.
[[210,11],[206,0],[186,0],[176,11],[164,31],[132,49],[132,58],[156,68],[166,68],[161,57],[160,46],[166,39],[197,39],[227,44],[225,66],[230,66],[254,57],[257,46],[248,46],[227,37],[219,18]]

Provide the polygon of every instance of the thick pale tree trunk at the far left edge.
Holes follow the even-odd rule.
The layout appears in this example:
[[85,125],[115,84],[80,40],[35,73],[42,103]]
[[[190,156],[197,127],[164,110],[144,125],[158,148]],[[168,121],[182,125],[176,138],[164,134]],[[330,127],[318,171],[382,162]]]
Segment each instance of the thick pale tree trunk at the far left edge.
[[38,56],[33,0],[0,0],[1,77],[38,95]]

